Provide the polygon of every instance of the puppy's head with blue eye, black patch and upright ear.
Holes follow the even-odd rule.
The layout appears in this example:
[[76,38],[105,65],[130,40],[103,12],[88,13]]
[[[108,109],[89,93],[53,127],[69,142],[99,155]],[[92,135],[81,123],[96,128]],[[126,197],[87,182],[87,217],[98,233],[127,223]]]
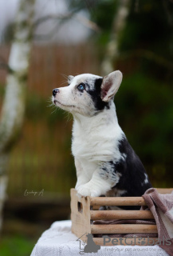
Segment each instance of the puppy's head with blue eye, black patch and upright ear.
[[72,114],[92,116],[109,108],[122,78],[119,70],[104,78],[95,74],[70,75],[69,86],[53,90],[53,103]]

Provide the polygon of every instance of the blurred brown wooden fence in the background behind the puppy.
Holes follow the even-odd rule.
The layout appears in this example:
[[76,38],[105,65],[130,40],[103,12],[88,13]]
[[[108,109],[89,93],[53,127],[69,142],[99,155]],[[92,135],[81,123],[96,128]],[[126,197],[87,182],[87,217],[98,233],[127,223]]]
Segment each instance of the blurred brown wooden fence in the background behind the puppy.
[[[0,47],[0,56],[6,62],[9,53],[10,46]],[[23,196],[26,190],[69,194],[69,188],[76,182],[70,153],[72,120],[68,122],[65,115],[60,118],[59,112],[53,115],[53,108],[47,107],[48,101],[53,88],[67,84],[65,76],[99,74],[99,68],[96,47],[92,43],[77,46],[33,46],[26,119],[20,141],[10,158],[8,194]],[[6,70],[0,70],[0,88],[3,89],[5,81]],[[2,94],[0,104],[2,105]],[[50,125],[49,118],[57,120]]]

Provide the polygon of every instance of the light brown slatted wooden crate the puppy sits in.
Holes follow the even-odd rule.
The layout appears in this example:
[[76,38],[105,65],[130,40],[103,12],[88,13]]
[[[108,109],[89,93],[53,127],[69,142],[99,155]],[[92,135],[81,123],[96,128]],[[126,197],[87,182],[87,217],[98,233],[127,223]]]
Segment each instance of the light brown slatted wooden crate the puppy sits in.
[[[157,189],[160,194],[171,193],[173,189]],[[93,225],[95,220],[114,219],[154,219],[150,210],[98,210],[100,206],[146,206],[142,197],[77,197],[77,190],[71,189],[71,220],[72,232],[83,241],[86,241],[86,234],[141,234],[157,233],[156,225],[148,224],[114,224],[114,225]],[[112,239],[106,246],[112,246]],[[115,245],[141,245],[140,238],[116,238]],[[93,238],[93,241],[104,246],[104,238]],[[154,245],[158,238],[147,238],[143,246]],[[154,244],[153,244],[154,243]]]

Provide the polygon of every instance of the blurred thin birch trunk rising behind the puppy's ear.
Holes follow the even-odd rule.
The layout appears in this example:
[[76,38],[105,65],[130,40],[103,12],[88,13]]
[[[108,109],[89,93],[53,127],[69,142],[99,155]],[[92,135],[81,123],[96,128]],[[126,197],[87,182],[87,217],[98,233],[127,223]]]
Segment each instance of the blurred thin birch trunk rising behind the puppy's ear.
[[101,64],[102,75],[107,75],[115,70],[116,59],[119,57],[120,35],[124,30],[130,2],[130,0],[119,0],[119,6],[113,21],[111,38],[107,45],[104,61]]

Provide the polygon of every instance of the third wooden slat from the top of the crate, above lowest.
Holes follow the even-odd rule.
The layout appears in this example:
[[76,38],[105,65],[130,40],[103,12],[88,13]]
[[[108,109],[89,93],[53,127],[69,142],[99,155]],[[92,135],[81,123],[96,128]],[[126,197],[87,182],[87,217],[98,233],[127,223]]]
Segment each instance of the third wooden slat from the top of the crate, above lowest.
[[128,234],[128,233],[157,233],[156,225],[148,224],[114,224],[91,225],[92,234]]

